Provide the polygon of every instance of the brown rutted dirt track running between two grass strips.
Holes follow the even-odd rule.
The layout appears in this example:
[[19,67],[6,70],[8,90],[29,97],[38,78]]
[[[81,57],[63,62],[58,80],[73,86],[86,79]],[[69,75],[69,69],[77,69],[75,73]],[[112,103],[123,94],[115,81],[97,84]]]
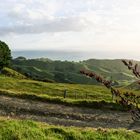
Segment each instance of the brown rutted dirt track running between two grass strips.
[[0,115],[55,125],[140,129],[128,112],[68,107],[7,96],[0,96]]

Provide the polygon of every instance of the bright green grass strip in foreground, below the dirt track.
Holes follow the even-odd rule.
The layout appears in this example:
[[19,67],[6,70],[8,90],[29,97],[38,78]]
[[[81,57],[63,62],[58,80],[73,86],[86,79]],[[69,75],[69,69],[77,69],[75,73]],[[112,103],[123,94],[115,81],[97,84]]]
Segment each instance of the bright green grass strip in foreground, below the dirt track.
[[28,120],[0,118],[1,140],[139,140],[140,134],[125,129],[91,129],[52,126]]

